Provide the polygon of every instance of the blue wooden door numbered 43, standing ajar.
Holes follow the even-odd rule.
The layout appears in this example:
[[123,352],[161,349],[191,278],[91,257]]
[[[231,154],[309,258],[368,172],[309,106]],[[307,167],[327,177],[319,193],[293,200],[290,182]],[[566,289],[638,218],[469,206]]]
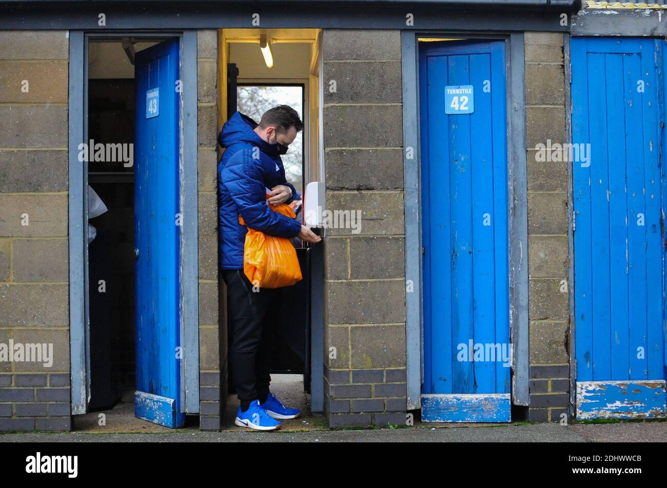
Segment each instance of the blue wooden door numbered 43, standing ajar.
[[135,416],[181,427],[179,41],[135,61]]

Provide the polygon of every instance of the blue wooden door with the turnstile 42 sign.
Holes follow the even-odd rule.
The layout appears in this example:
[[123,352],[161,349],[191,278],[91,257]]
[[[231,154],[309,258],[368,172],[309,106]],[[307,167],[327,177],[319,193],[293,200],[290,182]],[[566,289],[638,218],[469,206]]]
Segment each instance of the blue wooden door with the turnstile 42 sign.
[[419,76],[422,420],[509,422],[505,43],[422,43]]

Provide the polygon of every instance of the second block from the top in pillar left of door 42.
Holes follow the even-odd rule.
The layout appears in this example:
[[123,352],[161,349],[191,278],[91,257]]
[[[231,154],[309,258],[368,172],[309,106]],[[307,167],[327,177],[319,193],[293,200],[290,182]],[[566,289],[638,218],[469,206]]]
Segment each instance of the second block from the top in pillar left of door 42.
[[400,61],[324,63],[324,103],[401,103],[402,86]]

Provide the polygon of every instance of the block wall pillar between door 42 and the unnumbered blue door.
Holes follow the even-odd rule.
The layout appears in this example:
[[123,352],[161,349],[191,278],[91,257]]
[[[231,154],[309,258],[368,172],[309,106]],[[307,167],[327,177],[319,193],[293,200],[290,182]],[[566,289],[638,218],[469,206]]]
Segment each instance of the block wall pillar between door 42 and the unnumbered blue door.
[[528,317],[531,421],[560,421],[570,403],[567,163],[536,160],[566,143],[564,35],[527,32]]

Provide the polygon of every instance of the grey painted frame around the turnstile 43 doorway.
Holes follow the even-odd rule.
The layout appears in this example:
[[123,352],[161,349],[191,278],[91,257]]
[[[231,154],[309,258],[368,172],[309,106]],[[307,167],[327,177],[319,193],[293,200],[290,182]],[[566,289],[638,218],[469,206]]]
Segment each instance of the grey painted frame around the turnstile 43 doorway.
[[[88,169],[78,146],[88,139],[89,39],[179,37],[181,96],[181,408],[199,412],[199,289],[197,222],[197,31],[69,31],[69,337],[71,413],[86,413],[90,399],[88,317]],[[188,89],[193,87],[193,89]]]

